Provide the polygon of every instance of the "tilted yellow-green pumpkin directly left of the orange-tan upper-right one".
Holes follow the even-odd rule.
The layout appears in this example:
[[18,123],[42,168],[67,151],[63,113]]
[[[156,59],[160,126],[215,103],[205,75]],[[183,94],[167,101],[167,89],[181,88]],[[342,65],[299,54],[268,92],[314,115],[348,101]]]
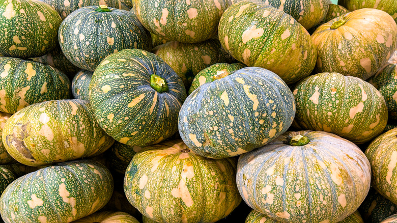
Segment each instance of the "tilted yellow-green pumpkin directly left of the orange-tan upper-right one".
[[243,1],[229,7],[220,18],[218,35],[234,58],[273,71],[288,85],[308,76],[316,64],[309,33],[292,16],[265,2]]

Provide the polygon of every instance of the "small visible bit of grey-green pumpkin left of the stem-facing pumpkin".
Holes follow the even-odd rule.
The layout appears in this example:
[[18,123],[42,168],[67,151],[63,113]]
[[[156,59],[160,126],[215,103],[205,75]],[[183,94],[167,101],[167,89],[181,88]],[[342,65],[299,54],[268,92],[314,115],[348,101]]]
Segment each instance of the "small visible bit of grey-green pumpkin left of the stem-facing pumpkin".
[[89,86],[94,72],[80,70],[72,80],[73,98],[90,101]]

